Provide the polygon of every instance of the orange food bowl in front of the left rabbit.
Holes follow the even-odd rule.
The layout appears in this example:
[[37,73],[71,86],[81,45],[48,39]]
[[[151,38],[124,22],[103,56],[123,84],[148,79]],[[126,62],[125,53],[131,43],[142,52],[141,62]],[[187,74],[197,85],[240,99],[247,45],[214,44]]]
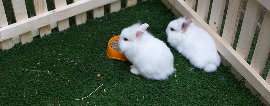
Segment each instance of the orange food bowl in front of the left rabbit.
[[113,50],[110,45],[112,41],[118,40],[119,36],[114,36],[113,38],[111,38],[109,40],[108,46],[107,46],[107,56],[110,59],[117,59],[117,60],[121,60],[121,61],[127,61],[128,59],[126,59],[126,56],[124,55],[124,53],[121,53],[120,51],[116,51]]

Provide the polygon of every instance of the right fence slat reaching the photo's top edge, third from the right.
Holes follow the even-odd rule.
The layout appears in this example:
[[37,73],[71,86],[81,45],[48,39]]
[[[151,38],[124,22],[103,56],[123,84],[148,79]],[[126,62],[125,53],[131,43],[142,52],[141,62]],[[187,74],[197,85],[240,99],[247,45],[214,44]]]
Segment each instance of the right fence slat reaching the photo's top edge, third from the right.
[[212,3],[209,26],[219,34],[225,10],[226,0],[214,0]]

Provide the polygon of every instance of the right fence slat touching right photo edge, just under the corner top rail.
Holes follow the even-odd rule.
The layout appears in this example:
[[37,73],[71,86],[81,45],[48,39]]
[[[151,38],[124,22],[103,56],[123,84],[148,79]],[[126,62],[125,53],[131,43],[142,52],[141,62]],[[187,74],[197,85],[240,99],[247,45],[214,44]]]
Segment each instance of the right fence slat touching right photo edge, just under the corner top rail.
[[[254,54],[250,63],[250,66],[259,74],[263,74],[263,69],[267,61],[270,52],[270,12],[266,11],[263,18],[263,23],[259,33],[259,37],[256,43]],[[247,88],[250,92],[255,95],[256,90],[252,87],[249,82],[245,82]]]

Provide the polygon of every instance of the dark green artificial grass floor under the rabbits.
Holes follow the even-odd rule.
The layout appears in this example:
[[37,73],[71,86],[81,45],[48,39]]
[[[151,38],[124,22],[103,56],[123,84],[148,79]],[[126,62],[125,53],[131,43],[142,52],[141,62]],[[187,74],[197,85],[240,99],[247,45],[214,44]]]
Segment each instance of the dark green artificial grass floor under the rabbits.
[[[68,30],[53,30],[43,38],[0,51],[0,104],[262,105],[233,77],[229,67],[221,65],[216,72],[205,73],[190,65],[167,42],[176,69],[167,80],[147,80],[132,74],[128,61],[107,57],[109,39],[123,28],[136,22],[148,23],[147,30],[166,41],[165,29],[174,19],[161,1],[138,1],[135,6],[88,19],[78,27],[71,24]],[[84,101],[73,100],[88,95]]]

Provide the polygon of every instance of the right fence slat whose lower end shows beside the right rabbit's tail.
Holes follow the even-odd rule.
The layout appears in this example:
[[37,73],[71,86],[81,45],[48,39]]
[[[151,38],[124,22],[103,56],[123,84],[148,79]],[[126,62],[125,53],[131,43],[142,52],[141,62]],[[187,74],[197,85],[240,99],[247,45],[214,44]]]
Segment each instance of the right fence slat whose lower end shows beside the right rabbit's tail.
[[[231,47],[234,43],[234,38],[241,14],[241,9],[244,0],[230,0],[228,5],[228,11],[226,15],[226,20],[224,24],[224,29],[222,33],[222,38],[225,40]],[[229,62],[221,56],[221,63],[225,66],[229,65]]]

